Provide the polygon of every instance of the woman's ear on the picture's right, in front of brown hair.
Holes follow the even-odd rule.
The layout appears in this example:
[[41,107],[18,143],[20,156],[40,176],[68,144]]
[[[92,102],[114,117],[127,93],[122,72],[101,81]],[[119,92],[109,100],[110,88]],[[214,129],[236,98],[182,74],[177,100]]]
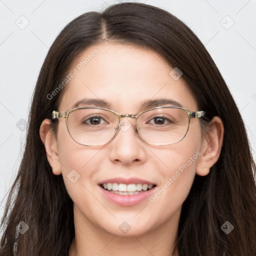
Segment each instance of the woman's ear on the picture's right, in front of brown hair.
[[224,126],[218,116],[214,116],[205,133],[201,143],[201,155],[196,163],[196,174],[207,175],[210,167],[218,160],[223,143]]

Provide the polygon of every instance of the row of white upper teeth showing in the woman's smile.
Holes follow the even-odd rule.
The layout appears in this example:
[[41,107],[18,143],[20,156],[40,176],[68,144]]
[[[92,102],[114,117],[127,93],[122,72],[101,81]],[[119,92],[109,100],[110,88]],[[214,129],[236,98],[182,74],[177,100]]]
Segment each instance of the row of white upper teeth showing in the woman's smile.
[[136,194],[139,191],[143,190],[146,191],[147,189],[151,189],[153,187],[153,184],[147,185],[147,184],[117,184],[117,183],[104,183],[103,187],[106,190],[111,190],[113,193],[118,193],[118,194]]

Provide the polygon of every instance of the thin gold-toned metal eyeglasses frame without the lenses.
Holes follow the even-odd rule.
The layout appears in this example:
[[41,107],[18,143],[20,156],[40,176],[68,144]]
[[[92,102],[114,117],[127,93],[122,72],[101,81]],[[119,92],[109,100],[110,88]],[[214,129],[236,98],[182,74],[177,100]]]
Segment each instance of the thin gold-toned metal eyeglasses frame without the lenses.
[[[119,130],[120,130],[121,118],[123,118],[123,117],[135,118],[135,122],[136,122],[136,130],[135,130],[135,132],[139,135],[139,138],[142,139],[145,143],[147,143],[147,144],[149,144],[149,145],[163,145],[163,146],[175,144],[175,143],[179,142],[180,140],[182,140],[182,139],[185,137],[185,135],[186,135],[186,133],[187,133],[187,131],[188,131],[188,128],[189,128],[189,124],[190,124],[191,118],[200,118],[200,117],[202,117],[202,116],[205,116],[205,113],[206,113],[206,112],[203,111],[203,110],[197,110],[197,111],[191,112],[191,111],[189,111],[187,108],[179,107],[179,106],[156,106],[156,107],[153,107],[153,108],[149,108],[149,109],[143,110],[143,111],[141,111],[141,112],[139,112],[139,113],[137,113],[137,114],[118,113],[118,112],[115,112],[115,111],[113,111],[113,110],[111,110],[111,109],[103,108],[103,107],[99,107],[99,106],[75,107],[75,108],[71,108],[71,109],[66,110],[64,113],[61,113],[61,112],[58,112],[58,111],[53,110],[53,111],[52,111],[52,119],[56,119],[56,118],[65,118],[66,128],[67,128],[67,131],[68,131],[70,137],[71,137],[71,138],[73,139],[73,141],[76,142],[77,144],[84,145],[84,146],[99,146],[99,145],[87,145],[87,144],[83,144],[83,143],[77,142],[77,141],[71,136],[71,134],[70,134],[70,132],[69,132],[69,130],[68,130],[68,126],[67,126],[67,118],[68,118],[68,115],[69,115],[71,112],[73,112],[73,111],[75,111],[75,110],[77,110],[77,109],[83,109],[83,108],[96,108],[96,109],[107,110],[107,111],[109,111],[109,112],[114,113],[114,114],[118,117],[119,121],[118,121],[118,124],[117,124],[117,126],[116,126],[116,128],[115,128],[115,133],[114,133],[113,137],[112,137],[111,139],[109,139],[105,144],[109,143],[110,141],[112,141],[112,140],[116,137],[117,133],[118,133]],[[173,143],[169,143],[169,144],[152,144],[152,143],[149,143],[149,142],[145,141],[145,140],[140,136],[139,131],[138,131],[140,128],[137,126],[137,118],[138,118],[142,113],[144,113],[144,112],[147,112],[147,111],[150,111],[150,110],[153,110],[153,109],[158,109],[158,108],[178,108],[178,109],[181,109],[181,110],[183,110],[183,111],[185,111],[185,112],[187,113],[187,116],[188,116],[188,125],[187,125],[186,132],[185,132],[185,134],[184,134],[184,136],[183,136],[182,138],[180,138],[179,140],[177,140],[177,141],[175,141],[175,142],[173,142]],[[102,144],[102,145],[105,145],[105,144]]]

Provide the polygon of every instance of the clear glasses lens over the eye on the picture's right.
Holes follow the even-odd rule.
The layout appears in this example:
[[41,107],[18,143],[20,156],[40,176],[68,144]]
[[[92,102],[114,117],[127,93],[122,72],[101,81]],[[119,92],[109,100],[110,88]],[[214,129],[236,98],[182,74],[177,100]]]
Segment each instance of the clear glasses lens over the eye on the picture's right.
[[185,110],[163,107],[142,113],[137,119],[137,124],[144,141],[155,145],[167,145],[185,136],[189,118]]

